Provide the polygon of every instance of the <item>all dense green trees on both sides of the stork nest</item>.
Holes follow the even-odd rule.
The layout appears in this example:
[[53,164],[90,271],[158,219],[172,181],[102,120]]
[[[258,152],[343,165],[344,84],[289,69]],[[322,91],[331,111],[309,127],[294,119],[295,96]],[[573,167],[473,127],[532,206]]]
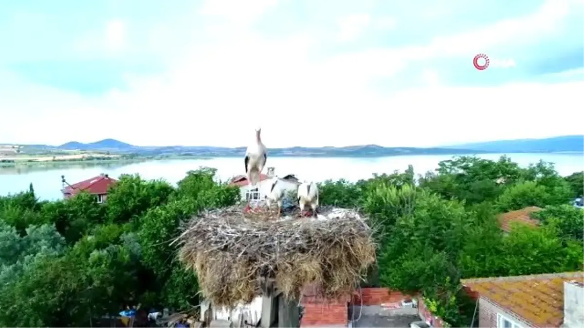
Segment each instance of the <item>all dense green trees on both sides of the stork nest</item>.
[[[79,194],[38,201],[30,190],[0,197],[0,327],[86,327],[126,305],[189,309],[197,278],[169,240],[203,208],[234,204],[239,190],[215,170],[188,172],[177,187],[121,176],[106,204]],[[321,184],[321,203],[371,217],[378,265],[368,283],[421,292],[435,314],[468,326],[474,304],[460,279],[579,270],[584,212],[569,203],[584,173],[561,177],[550,163],[456,157],[436,172],[374,175]],[[497,215],[527,206],[540,228],[499,229]]]

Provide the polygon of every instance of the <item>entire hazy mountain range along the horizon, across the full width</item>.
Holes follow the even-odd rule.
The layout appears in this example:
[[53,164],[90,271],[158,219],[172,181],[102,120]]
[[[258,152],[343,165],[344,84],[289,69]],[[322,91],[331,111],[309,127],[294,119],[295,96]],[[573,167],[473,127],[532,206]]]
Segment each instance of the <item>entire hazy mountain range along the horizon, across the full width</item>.
[[[71,141],[60,146],[24,145],[24,152],[37,151],[95,151],[142,156],[189,155],[189,156],[242,156],[245,147],[227,148],[214,146],[135,146],[116,139],[84,144]],[[518,139],[475,142],[433,148],[383,147],[378,145],[357,145],[344,147],[290,147],[270,148],[270,156],[347,156],[376,157],[392,155],[461,155],[474,153],[517,153],[517,152],[584,152],[584,135],[568,135],[545,139]]]

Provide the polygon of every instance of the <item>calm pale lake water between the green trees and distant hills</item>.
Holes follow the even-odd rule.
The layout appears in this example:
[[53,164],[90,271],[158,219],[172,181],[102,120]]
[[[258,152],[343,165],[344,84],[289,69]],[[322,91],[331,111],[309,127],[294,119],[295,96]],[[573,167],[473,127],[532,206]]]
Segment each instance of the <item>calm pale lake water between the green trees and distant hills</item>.
[[[486,159],[498,159],[501,154],[481,155]],[[510,158],[522,166],[535,163],[540,159],[555,163],[561,175],[584,170],[584,153],[550,154],[550,153],[517,153]],[[423,174],[437,168],[438,162],[450,159],[449,155],[415,155],[391,156],[381,158],[298,158],[280,157],[268,158],[267,165],[276,168],[276,175],[295,174],[299,179],[322,181],[326,179],[359,180],[371,177],[373,173],[391,173],[394,170],[405,170],[413,165],[416,173]],[[33,183],[34,190],[41,199],[54,200],[61,198],[61,175],[69,183],[79,182],[100,173],[117,177],[122,173],[139,173],[145,179],[164,178],[176,183],[185,176],[188,170],[200,166],[216,168],[222,180],[227,180],[244,171],[242,158],[214,158],[192,160],[158,160],[131,164],[92,164],[67,165],[60,167],[29,167],[0,168],[0,195],[17,193],[26,190]]]

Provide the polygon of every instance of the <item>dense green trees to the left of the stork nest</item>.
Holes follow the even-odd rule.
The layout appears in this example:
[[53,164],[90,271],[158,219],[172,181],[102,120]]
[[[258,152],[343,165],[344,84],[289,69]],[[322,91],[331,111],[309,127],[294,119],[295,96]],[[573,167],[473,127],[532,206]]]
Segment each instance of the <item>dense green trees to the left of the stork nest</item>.
[[0,327],[88,327],[126,305],[196,305],[196,275],[169,241],[201,208],[238,200],[214,176],[188,172],[176,188],[121,176],[106,204],[85,193],[40,202],[32,186],[0,197]]

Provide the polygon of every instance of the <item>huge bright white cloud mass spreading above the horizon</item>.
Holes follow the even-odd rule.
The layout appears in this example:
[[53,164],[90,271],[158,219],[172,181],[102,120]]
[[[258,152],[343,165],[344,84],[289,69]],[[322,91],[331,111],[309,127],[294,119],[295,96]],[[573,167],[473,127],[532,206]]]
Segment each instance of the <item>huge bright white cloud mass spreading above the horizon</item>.
[[[228,19],[206,35],[211,41],[192,44],[164,75],[128,76],[128,90],[96,99],[0,74],[0,109],[11,109],[0,113],[18,122],[2,127],[2,142],[60,144],[109,137],[138,145],[237,146],[245,144],[256,125],[262,125],[268,146],[430,146],[582,132],[578,120],[565,117],[579,110],[576,100],[584,82],[446,88],[439,85],[437,73],[428,70],[421,76],[426,87],[391,95],[371,89],[374,78],[394,75],[412,60],[427,57],[427,51],[452,47],[451,53],[458,54],[468,51],[465,40],[471,48],[478,47],[471,34],[315,61],[310,56],[319,41],[315,36],[265,39],[242,27],[272,1],[263,1],[263,6],[254,2],[251,8],[231,4],[234,7],[225,0],[208,2],[204,12]],[[559,14],[554,15],[539,22],[556,22]],[[514,25],[520,23],[507,22],[507,33],[530,36],[529,29]],[[500,31],[497,26],[481,31]],[[531,31],[533,36],[541,32]],[[513,41],[489,33],[485,35],[491,36],[491,43]],[[544,114],[550,110],[553,116]],[[30,113],[36,113],[33,120],[27,118]]]

